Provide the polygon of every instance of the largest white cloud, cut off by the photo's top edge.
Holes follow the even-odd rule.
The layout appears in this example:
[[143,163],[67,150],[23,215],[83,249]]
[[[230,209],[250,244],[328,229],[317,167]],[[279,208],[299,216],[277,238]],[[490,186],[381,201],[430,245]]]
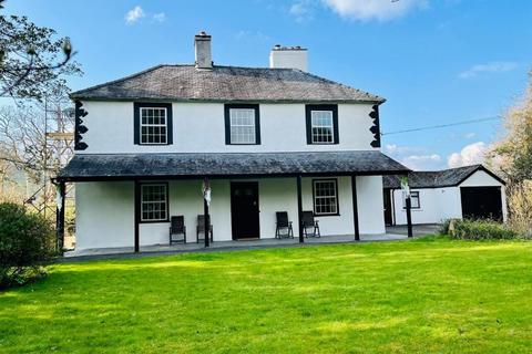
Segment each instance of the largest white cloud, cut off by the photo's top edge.
[[387,21],[428,6],[428,0],[321,0],[342,18]]

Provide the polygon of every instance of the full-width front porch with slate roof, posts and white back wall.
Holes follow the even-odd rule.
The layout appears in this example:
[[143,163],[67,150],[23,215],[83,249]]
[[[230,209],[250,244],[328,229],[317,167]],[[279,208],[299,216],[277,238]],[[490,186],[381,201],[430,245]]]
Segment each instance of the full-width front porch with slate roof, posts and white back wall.
[[[347,242],[361,240],[364,235],[378,239],[386,232],[381,176],[406,171],[406,167],[378,150],[83,154],[76,155],[60,173],[58,184],[60,191],[65,183],[76,184],[78,254],[98,253],[95,249],[104,253],[164,252],[204,247]],[[204,183],[212,186],[211,205],[201,195]],[[156,194],[151,189],[157,189]],[[156,196],[153,200],[152,195]],[[250,197],[238,208],[237,195]],[[157,204],[156,208],[144,209],[146,200]],[[153,210],[158,212],[155,219],[146,219]],[[300,226],[306,210],[318,219],[321,239],[304,239]],[[274,239],[277,211],[288,212],[294,239]],[[212,246],[207,238],[202,244],[194,243],[200,226],[195,220],[200,220],[200,215],[205,216],[202,225],[214,228]],[[187,223],[186,244],[166,243],[172,216],[182,216]],[[246,220],[252,220],[247,223],[253,229],[242,228]],[[59,214],[60,242],[62,221]],[[234,241],[241,238],[255,240]]]

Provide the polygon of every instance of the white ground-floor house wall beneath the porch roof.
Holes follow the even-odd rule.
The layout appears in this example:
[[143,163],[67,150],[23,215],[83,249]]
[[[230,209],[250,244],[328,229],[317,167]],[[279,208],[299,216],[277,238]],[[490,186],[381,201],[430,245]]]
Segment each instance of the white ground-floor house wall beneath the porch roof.
[[[338,177],[338,216],[317,217],[324,237],[354,235],[350,177]],[[253,180],[253,179],[246,179]],[[275,212],[288,211],[298,236],[297,187],[295,178],[263,178],[259,188],[260,238],[275,237]],[[303,178],[303,209],[313,210],[313,178]],[[232,240],[231,183],[212,180],[211,220],[215,241]],[[187,242],[196,240],[197,215],[203,214],[202,181],[168,181],[170,215],[183,215]],[[357,177],[360,233],[383,233],[382,178]],[[133,183],[76,184],[76,248],[133,247]],[[140,225],[140,243],[167,244],[170,222]]]

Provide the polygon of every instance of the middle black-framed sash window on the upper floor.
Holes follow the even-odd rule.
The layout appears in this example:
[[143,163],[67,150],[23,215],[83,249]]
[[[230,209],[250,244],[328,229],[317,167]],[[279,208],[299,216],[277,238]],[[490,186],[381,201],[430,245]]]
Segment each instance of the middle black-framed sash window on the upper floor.
[[260,117],[258,104],[225,105],[225,144],[260,144]]

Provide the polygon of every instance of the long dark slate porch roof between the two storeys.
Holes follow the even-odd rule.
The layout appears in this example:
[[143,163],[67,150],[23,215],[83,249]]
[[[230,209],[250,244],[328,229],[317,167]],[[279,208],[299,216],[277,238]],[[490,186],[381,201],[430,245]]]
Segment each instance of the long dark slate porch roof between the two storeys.
[[78,154],[58,175],[62,180],[381,175],[410,171],[378,150],[319,153]]

